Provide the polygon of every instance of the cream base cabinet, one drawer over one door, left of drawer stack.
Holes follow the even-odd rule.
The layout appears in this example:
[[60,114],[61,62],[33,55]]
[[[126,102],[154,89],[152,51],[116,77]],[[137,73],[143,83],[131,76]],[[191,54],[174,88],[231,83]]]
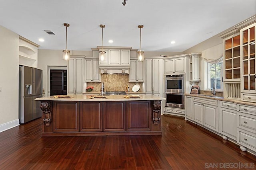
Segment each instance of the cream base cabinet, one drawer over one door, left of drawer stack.
[[236,140],[236,104],[220,101],[220,133],[222,138]]

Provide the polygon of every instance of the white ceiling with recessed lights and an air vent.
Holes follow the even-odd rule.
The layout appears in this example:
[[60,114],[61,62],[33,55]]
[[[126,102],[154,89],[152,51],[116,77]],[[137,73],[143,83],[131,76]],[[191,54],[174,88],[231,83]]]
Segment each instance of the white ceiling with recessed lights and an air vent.
[[[256,0],[0,0],[0,25],[40,45],[64,49],[104,46],[185,51],[256,14]],[[48,35],[51,30],[56,35]],[[39,42],[44,38],[44,42]],[[113,43],[108,43],[112,39]],[[171,44],[171,41],[176,41]]]

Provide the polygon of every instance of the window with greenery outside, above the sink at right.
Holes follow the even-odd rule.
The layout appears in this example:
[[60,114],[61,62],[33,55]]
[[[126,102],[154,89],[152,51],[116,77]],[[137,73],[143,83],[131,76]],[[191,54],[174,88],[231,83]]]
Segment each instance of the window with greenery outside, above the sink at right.
[[208,88],[212,89],[215,83],[216,89],[222,89],[222,63],[208,63]]

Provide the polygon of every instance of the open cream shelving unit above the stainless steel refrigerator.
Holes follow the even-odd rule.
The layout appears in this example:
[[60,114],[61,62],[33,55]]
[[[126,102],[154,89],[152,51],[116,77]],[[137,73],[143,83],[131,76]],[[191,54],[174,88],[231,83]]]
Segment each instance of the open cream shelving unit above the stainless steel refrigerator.
[[37,68],[39,45],[20,36],[19,39],[19,64]]

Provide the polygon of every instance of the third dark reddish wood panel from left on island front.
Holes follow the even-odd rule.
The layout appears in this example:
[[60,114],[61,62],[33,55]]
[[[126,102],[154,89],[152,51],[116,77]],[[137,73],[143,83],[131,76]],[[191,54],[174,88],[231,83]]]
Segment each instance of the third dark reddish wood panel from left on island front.
[[125,131],[125,102],[104,102],[103,131]]

